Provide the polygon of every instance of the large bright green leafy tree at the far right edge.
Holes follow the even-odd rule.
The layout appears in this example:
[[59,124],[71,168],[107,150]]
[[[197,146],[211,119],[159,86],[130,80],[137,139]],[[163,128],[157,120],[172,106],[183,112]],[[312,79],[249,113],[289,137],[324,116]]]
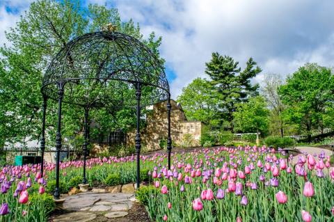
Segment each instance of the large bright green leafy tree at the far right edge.
[[[299,126],[311,141],[312,130],[323,124],[324,115],[331,113],[334,102],[334,75],[331,68],[307,63],[278,90],[287,106],[285,116]],[[333,117],[332,117],[333,118]]]

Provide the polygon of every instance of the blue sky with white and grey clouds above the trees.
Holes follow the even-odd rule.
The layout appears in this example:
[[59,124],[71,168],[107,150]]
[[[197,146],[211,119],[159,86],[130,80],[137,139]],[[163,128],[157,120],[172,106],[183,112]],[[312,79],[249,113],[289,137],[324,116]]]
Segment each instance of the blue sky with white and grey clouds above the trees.
[[[241,67],[251,56],[263,74],[286,76],[307,62],[334,66],[334,1],[310,0],[85,0],[118,8],[144,35],[161,35],[161,55],[173,97],[205,77],[212,51]],[[0,0],[0,43],[29,7],[28,0]]]

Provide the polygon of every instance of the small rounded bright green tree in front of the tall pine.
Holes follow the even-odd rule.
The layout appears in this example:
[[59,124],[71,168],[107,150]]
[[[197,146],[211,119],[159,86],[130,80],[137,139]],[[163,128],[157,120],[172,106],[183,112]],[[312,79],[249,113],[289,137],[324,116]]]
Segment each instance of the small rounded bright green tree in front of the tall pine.
[[265,134],[269,124],[269,109],[262,96],[250,97],[248,102],[237,105],[233,113],[236,128],[241,132]]

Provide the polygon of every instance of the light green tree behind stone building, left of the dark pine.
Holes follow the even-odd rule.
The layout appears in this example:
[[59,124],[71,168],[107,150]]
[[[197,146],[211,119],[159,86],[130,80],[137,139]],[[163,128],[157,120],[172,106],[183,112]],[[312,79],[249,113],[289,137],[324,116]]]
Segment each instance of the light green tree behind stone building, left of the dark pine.
[[212,84],[206,79],[196,78],[191,84],[182,89],[177,102],[189,120],[198,120],[206,125],[218,125],[218,97]]

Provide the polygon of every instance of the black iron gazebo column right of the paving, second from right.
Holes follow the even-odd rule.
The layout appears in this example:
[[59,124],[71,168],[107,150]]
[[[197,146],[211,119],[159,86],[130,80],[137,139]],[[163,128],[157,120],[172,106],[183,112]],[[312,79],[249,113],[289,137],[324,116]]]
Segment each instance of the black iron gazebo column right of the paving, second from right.
[[137,156],[137,189],[139,188],[139,184],[141,183],[141,132],[139,126],[139,120],[141,118],[141,84],[137,83],[136,85],[136,116],[137,116],[137,129],[136,129],[136,156]]

